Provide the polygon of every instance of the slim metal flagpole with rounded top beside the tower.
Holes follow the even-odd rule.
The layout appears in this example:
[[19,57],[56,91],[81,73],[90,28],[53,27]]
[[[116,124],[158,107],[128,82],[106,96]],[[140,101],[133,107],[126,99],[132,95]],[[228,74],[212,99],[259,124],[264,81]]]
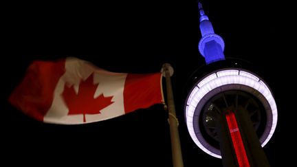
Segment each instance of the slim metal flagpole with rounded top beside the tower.
[[170,76],[173,76],[173,67],[165,63],[162,67],[162,75],[166,78],[166,92],[168,102],[168,120],[170,127],[171,151],[173,158],[173,167],[184,167],[181,155],[181,146],[179,142],[178,120],[175,113],[175,103]]

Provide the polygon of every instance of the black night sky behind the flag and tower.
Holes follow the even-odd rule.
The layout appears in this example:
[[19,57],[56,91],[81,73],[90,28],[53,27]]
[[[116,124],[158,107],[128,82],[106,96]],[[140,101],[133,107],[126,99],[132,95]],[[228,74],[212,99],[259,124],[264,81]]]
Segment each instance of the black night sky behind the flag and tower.
[[[225,57],[246,60],[271,87],[278,124],[264,151],[271,166],[293,163],[296,115],[292,52],[294,22],[288,4],[201,1]],[[292,8],[292,7],[291,7]],[[33,60],[74,56],[98,67],[135,74],[175,69],[173,93],[184,166],[222,166],[192,141],[184,122],[186,80],[204,64],[197,44],[196,1],[110,1],[7,4],[3,26],[1,151],[12,166],[172,166],[168,113],[162,104],[83,125],[44,124],[7,102]],[[293,41],[293,42],[290,42]],[[164,84],[165,84],[165,80]],[[292,146],[291,146],[292,145]],[[6,147],[3,149],[3,147]],[[294,153],[294,151],[293,151]]]

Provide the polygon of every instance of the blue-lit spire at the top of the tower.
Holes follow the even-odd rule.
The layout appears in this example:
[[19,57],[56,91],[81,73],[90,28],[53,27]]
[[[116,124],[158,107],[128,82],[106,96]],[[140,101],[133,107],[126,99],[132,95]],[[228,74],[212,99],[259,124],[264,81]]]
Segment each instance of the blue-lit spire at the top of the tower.
[[201,3],[198,3],[200,13],[200,31],[202,38],[199,41],[198,49],[200,54],[205,58],[206,64],[213,63],[218,60],[225,60],[223,50],[225,43],[221,36],[214,34],[212,23],[208,16],[204,13]]

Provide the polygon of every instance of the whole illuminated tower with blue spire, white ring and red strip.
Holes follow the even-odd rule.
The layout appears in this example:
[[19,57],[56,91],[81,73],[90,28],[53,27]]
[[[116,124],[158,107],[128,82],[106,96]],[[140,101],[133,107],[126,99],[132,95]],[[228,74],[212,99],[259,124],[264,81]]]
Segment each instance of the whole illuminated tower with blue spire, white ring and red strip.
[[225,60],[223,39],[214,34],[201,3],[199,13],[198,47],[207,65],[195,72],[186,98],[188,132],[201,150],[223,157],[223,166],[269,166],[262,147],[276,128],[272,92],[238,60]]

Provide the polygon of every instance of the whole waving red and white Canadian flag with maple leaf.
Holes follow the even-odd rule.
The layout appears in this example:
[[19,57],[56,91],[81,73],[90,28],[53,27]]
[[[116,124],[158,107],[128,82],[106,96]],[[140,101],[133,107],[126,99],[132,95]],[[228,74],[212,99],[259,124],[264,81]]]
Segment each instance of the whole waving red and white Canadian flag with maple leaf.
[[36,60],[9,102],[47,123],[97,122],[164,103],[162,74],[114,73],[78,58]]

